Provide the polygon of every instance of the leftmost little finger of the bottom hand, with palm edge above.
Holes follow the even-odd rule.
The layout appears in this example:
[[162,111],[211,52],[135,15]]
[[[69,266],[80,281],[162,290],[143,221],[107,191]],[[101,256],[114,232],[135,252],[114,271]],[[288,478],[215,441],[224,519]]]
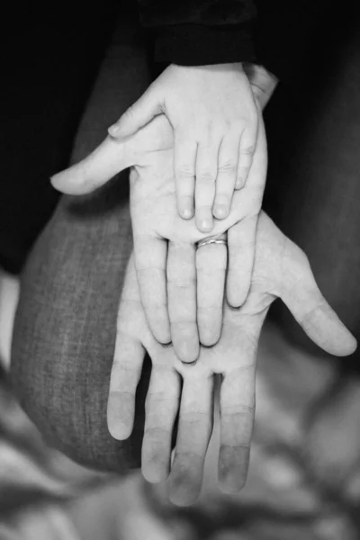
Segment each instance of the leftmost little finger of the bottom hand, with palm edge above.
[[116,439],[128,438],[132,431],[135,392],[145,354],[137,333],[144,329],[141,338],[145,342],[146,328],[133,260],[130,258],[118,313],[107,407],[108,428]]

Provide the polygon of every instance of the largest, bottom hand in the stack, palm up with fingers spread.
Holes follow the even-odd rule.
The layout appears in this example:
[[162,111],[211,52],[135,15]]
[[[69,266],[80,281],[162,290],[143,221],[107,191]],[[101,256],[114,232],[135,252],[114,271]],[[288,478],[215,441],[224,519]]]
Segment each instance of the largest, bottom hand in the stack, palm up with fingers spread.
[[146,349],[153,368],[146,404],[142,471],[149,482],[167,477],[172,431],[179,410],[175,459],[169,478],[170,498],[177,504],[191,504],[201,489],[203,462],[211,437],[214,374],[223,377],[220,485],[224,491],[233,492],[246,480],[255,411],[257,341],[266,312],[276,297],[283,299],[308,336],[324,350],[337,356],[355,350],[355,338],[321,295],[302,250],[285,238],[264,213],[257,229],[256,262],[247,302],[236,311],[225,306],[219,343],[202,348],[198,363],[191,369],[184,368],[171,348],[161,347],[153,338],[130,260],[118,316],[108,425],[113,437],[130,436],[135,392]]

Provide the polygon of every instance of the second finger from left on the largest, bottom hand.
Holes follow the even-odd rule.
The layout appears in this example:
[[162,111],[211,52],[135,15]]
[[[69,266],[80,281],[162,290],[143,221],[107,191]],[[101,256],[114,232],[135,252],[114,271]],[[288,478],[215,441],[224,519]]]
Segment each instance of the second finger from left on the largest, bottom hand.
[[148,482],[162,482],[170,472],[171,442],[180,390],[180,375],[171,362],[162,366],[154,362],[146,399],[141,458],[142,473]]

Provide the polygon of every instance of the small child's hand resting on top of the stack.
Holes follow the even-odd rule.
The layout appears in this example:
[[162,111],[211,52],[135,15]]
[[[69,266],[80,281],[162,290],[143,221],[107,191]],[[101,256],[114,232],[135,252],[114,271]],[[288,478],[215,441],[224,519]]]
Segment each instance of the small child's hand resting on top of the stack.
[[109,133],[129,136],[161,113],[175,130],[178,211],[190,219],[195,205],[197,227],[209,232],[212,214],[229,215],[257,144],[257,104],[242,65],[167,67]]

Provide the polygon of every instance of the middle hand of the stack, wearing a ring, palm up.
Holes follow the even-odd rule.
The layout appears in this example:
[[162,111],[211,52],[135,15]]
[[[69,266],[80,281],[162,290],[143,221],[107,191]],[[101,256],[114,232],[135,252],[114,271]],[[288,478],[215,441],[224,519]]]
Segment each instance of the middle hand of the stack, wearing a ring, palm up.
[[[162,115],[124,144],[105,139],[85,160],[55,175],[52,183],[64,193],[89,193],[136,164],[130,175],[130,207],[141,299],[157,340],[172,341],[176,354],[193,362],[199,355],[199,333],[206,346],[220,338],[225,276],[229,302],[241,305],[247,298],[266,181],[266,139],[261,122],[247,184],[235,193],[228,218],[217,220],[213,229],[216,235],[229,230],[227,275],[226,247],[212,245],[196,252],[196,242],[207,235],[194,220],[182,220],[176,212],[173,142],[173,130]],[[210,303],[204,298],[207,289],[213,292]]]

